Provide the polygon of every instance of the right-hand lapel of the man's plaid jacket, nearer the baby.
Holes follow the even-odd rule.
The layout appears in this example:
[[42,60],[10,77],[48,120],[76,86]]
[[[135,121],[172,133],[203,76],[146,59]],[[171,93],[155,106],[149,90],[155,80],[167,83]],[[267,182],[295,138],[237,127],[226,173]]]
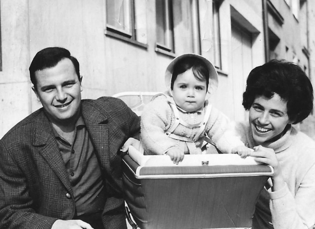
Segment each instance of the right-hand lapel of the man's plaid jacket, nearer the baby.
[[102,169],[110,172],[109,142],[108,142],[108,117],[104,111],[91,103],[82,103],[82,117],[87,126],[90,139],[96,150]]

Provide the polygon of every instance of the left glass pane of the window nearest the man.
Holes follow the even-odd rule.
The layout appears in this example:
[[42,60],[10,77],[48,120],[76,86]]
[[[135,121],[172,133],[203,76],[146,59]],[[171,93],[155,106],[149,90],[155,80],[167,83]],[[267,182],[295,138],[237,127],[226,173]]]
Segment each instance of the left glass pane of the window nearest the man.
[[131,34],[131,9],[131,0],[106,0],[107,24]]

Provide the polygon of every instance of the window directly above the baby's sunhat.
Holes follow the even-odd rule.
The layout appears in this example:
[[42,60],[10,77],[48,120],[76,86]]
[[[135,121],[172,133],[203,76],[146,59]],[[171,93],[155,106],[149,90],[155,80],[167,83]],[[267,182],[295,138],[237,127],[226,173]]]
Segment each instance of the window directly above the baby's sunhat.
[[157,50],[200,54],[197,0],[156,0]]

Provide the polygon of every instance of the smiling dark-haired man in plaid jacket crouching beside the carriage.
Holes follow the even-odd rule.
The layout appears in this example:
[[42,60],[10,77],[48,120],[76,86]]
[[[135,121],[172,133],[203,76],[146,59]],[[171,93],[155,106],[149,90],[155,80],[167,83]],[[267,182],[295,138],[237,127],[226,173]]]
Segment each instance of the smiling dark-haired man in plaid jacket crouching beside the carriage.
[[123,143],[140,131],[121,100],[81,100],[79,63],[60,47],[30,65],[43,107],[0,140],[0,228],[126,228]]

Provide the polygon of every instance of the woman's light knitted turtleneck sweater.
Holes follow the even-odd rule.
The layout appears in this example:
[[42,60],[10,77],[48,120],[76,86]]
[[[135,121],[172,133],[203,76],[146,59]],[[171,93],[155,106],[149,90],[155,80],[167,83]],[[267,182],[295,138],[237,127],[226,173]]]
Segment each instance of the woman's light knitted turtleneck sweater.
[[[256,146],[248,123],[238,123],[236,130],[245,144]],[[277,141],[262,146],[275,151],[285,186],[275,192],[263,189],[254,221],[260,221],[259,229],[270,228],[261,225],[271,220],[275,229],[311,227],[315,223],[315,142],[291,127]]]

